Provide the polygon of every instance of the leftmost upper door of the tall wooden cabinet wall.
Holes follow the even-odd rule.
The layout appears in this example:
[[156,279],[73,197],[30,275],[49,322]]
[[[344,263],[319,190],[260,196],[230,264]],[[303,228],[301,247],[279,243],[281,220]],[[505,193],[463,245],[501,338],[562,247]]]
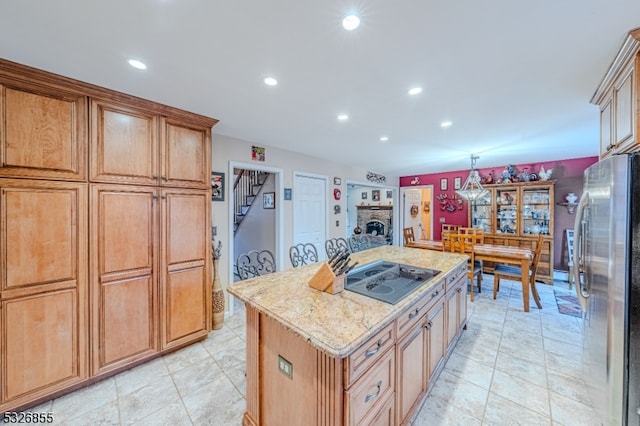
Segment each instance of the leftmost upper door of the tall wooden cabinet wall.
[[0,175],[83,180],[86,108],[75,93],[0,84]]

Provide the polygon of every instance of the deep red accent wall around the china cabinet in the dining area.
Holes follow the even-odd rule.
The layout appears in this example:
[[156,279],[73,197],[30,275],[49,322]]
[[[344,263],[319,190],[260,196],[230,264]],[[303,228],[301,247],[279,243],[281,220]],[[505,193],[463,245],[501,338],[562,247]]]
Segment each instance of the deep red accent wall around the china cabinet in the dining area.
[[[551,180],[555,180],[556,182],[554,194],[555,202],[560,203],[565,201],[565,196],[569,192],[575,193],[578,197],[582,195],[584,170],[597,161],[598,157],[583,157],[540,163],[514,164],[514,166],[518,171],[522,171],[526,167],[529,173],[538,173],[543,166],[545,170],[553,170],[551,173]],[[505,167],[506,165],[478,168],[478,172],[481,177],[486,177],[491,173],[494,178],[497,179],[500,177]],[[462,201],[462,209],[456,208],[455,211],[450,212],[441,208],[442,204],[438,199],[438,196],[440,195],[446,195],[447,199],[456,196],[454,179],[459,177],[461,184],[464,184],[467,176],[469,176],[469,169],[400,177],[400,187],[433,185],[433,208],[431,209],[431,212],[433,217],[433,238],[435,240],[440,239],[441,218],[444,218],[444,223],[469,226],[469,205],[467,201]],[[440,189],[441,179],[446,179],[446,190]],[[569,214],[565,207],[558,205],[555,206],[554,212],[553,264],[555,269],[567,270],[564,230],[567,228],[573,228],[575,214]]]

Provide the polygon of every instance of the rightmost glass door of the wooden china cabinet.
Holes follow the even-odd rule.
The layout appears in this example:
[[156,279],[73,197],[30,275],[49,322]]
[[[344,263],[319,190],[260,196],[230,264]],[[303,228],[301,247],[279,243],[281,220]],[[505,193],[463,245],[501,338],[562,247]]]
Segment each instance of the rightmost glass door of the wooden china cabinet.
[[522,188],[522,234],[551,235],[552,202],[549,188]]

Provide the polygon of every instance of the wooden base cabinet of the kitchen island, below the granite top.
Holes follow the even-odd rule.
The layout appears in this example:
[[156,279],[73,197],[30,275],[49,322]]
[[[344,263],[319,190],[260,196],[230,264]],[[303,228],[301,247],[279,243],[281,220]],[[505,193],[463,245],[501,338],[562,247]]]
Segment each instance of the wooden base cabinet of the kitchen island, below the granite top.
[[410,424],[466,323],[466,258],[443,275],[414,303],[369,327],[364,342],[353,342],[344,355],[329,355],[330,349],[245,300],[242,424]]

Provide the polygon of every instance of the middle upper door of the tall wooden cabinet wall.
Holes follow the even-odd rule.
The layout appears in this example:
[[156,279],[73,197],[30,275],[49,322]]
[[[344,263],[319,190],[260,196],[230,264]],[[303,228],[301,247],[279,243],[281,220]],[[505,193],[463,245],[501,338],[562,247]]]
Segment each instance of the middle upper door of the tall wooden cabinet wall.
[[91,117],[91,180],[157,184],[157,116],[93,100]]

